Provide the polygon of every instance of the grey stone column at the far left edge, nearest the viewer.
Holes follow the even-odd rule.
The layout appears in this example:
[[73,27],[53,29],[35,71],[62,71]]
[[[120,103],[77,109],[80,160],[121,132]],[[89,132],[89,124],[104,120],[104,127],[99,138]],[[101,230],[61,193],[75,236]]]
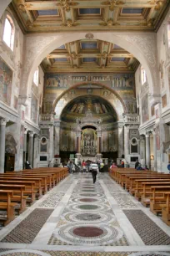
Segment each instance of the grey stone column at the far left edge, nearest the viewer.
[[5,165],[5,130],[6,130],[7,120],[0,120],[0,173],[4,172]]

